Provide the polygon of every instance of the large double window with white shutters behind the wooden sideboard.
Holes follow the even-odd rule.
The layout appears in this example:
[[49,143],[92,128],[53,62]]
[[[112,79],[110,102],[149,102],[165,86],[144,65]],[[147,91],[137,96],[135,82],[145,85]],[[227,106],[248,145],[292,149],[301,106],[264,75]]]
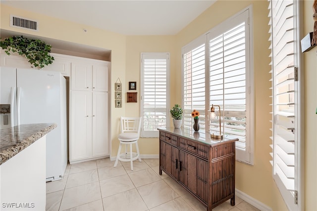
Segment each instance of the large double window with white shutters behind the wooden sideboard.
[[[200,132],[219,133],[219,118],[209,120],[211,105],[220,106],[221,134],[238,138],[236,159],[253,164],[254,98],[252,36],[248,7],[182,49],[184,127],[192,128],[200,111]],[[252,18],[251,18],[252,19]],[[215,109],[218,115],[218,109]]]

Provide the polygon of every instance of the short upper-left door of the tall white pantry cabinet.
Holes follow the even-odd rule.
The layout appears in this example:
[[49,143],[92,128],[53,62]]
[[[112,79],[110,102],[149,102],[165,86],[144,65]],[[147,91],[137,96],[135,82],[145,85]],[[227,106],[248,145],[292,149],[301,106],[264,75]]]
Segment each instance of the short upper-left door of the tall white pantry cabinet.
[[71,63],[71,90],[92,90],[93,65],[89,63]]

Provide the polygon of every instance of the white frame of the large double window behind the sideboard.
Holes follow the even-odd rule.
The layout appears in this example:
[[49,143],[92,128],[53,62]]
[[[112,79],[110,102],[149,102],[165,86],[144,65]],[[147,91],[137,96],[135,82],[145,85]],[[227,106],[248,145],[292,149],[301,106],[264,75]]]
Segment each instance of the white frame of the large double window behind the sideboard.
[[[247,118],[247,131],[248,131],[248,145],[246,145],[246,150],[240,150],[236,148],[236,160],[240,162],[245,162],[247,164],[254,164],[254,122],[255,122],[255,97],[254,97],[254,57],[253,57],[253,7],[252,5],[246,7],[245,9],[241,10],[240,12],[236,13],[235,15],[231,16],[227,20],[223,21],[222,23],[214,26],[211,30],[203,34],[202,36],[198,37],[191,43],[187,44],[182,48],[182,78],[184,79],[184,53],[187,53],[190,50],[194,50],[195,47],[199,46],[199,43],[204,40],[205,41],[205,113],[207,116],[208,110],[210,110],[210,84],[209,84],[209,41],[211,36],[216,37],[215,35],[220,35],[226,32],[226,29],[230,29],[235,27],[237,24],[233,24],[240,21],[240,18],[244,18],[246,21],[246,25],[248,25],[248,35],[249,39],[246,38],[246,49],[248,48],[248,55],[246,54],[246,65],[248,66],[249,83],[246,85],[246,94],[249,93],[249,102],[246,105],[247,113],[249,118]],[[241,22],[241,21],[240,21]],[[221,33],[219,33],[219,30]],[[247,68],[247,67],[246,67]],[[247,71],[247,70],[246,70]],[[182,106],[184,107],[184,81],[182,83]],[[194,108],[193,108],[194,109]],[[209,125],[208,118],[205,118],[205,125]],[[207,126],[206,126],[207,127]],[[208,127],[207,127],[208,128]],[[207,129],[208,130],[208,129]],[[203,131],[202,131],[203,132]]]

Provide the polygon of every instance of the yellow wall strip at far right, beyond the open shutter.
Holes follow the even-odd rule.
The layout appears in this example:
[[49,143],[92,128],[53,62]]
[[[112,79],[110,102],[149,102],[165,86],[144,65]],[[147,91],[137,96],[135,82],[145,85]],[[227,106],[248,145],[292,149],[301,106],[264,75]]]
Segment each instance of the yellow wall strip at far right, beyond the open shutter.
[[[313,0],[304,0],[304,36],[314,30]],[[304,54],[305,210],[317,211],[317,48]]]

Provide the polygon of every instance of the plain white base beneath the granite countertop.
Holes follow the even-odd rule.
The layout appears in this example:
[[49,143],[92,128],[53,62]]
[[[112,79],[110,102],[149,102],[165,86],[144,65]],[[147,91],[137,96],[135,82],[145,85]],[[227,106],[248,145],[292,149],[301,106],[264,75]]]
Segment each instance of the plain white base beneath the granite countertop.
[[45,211],[46,136],[0,165],[1,211]]

